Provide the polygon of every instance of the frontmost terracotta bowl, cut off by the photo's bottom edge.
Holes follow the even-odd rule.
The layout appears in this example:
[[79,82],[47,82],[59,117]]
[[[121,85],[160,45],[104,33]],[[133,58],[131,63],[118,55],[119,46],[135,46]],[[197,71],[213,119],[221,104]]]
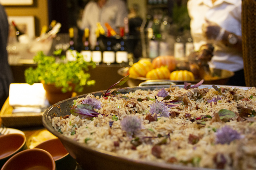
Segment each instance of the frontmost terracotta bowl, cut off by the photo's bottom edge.
[[1,170],[56,170],[52,155],[42,149],[21,151],[2,166]]

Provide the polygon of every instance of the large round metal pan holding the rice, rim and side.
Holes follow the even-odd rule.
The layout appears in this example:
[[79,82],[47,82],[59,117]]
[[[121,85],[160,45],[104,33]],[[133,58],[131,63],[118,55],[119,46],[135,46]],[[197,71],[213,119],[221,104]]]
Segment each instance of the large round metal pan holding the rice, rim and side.
[[[184,85],[176,85],[179,87],[184,87]],[[142,90],[153,90],[156,88],[168,88],[169,85],[161,86],[143,86],[143,87],[128,87],[128,88],[119,88],[118,91],[121,93],[134,92],[137,89]],[[212,85],[201,85],[199,88],[211,88]],[[240,87],[241,88],[241,87]],[[243,87],[248,88],[248,87]],[[102,95],[105,91],[91,93],[93,95]],[[79,97],[85,97],[87,94],[80,95]],[[156,162],[145,162],[141,160],[128,159],[122,156],[117,156],[116,153],[100,150],[97,148],[88,147],[86,144],[78,143],[70,138],[67,138],[54,130],[52,123],[49,120],[50,117],[56,115],[57,117],[65,116],[70,114],[70,108],[72,107],[73,100],[77,97],[72,97],[56,103],[55,105],[49,107],[42,117],[43,125],[60,139],[66,150],[70,155],[76,159],[82,168],[86,170],[102,170],[102,169],[111,169],[111,170],[209,170],[205,168],[191,168],[185,166],[178,166],[167,163],[156,163]]]

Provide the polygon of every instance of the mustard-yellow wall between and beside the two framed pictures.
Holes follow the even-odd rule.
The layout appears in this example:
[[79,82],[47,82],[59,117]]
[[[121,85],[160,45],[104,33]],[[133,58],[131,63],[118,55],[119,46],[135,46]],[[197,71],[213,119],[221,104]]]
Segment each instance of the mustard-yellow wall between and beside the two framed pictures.
[[33,6],[5,6],[8,16],[28,16],[35,17],[35,35],[39,36],[42,26],[48,26],[48,3],[47,0],[34,0]]

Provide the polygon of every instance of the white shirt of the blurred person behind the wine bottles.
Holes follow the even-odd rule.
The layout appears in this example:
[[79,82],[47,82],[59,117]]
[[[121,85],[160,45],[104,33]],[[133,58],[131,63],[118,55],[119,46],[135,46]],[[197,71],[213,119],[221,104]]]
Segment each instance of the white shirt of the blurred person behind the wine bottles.
[[89,28],[90,43],[94,47],[96,44],[95,29],[97,28],[97,22],[100,22],[105,31],[107,31],[105,23],[109,23],[112,29],[118,33],[120,32],[118,27],[124,26],[124,18],[127,15],[126,4],[122,0],[107,0],[102,8],[98,6],[97,2],[90,1],[83,11],[80,29]]

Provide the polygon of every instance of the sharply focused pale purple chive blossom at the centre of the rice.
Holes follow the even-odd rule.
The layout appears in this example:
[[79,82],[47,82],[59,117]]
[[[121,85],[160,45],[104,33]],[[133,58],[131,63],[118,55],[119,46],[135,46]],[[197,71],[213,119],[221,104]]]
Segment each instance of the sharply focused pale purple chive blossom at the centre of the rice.
[[153,103],[152,105],[149,106],[149,112],[151,114],[160,114],[160,117],[166,117],[169,118],[169,114],[170,114],[170,108],[168,108],[168,106],[166,106],[164,103],[158,102],[156,101],[155,103]]

